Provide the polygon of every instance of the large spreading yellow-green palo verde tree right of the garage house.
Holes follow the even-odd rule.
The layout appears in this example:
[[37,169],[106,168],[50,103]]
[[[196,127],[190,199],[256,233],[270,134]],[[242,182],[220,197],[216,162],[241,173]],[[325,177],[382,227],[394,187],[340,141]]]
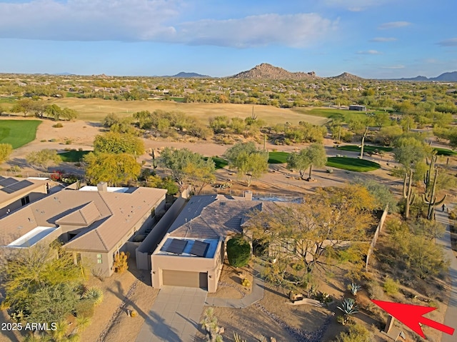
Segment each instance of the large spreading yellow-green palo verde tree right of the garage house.
[[[276,258],[266,266],[268,281],[306,286],[315,271],[328,270],[344,243],[366,240],[374,205],[366,188],[347,185],[321,189],[303,203],[271,203],[268,211],[252,213],[246,229]],[[361,254],[353,258],[351,263],[361,263]]]

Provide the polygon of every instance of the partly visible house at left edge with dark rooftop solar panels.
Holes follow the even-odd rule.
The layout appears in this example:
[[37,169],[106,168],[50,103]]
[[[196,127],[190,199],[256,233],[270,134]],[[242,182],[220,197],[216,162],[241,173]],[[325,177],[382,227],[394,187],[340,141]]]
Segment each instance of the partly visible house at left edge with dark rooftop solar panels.
[[0,176],[0,217],[46,196],[48,182],[48,178]]

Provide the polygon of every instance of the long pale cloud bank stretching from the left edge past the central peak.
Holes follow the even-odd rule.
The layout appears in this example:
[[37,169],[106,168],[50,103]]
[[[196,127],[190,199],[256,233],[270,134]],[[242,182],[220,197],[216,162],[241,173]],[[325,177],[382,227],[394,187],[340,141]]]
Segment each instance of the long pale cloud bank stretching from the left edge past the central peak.
[[180,23],[184,6],[184,0],[0,3],[0,38],[161,41],[241,48],[268,44],[303,47],[325,39],[338,25],[338,21],[313,13],[263,14]]

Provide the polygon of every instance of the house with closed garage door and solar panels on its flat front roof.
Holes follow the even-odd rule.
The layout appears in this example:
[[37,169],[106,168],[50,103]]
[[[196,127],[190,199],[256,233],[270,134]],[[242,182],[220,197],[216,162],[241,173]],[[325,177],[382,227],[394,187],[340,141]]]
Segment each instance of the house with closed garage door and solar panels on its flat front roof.
[[193,196],[151,255],[154,288],[163,285],[216,292],[226,241],[243,232],[248,213],[266,203],[224,195]]

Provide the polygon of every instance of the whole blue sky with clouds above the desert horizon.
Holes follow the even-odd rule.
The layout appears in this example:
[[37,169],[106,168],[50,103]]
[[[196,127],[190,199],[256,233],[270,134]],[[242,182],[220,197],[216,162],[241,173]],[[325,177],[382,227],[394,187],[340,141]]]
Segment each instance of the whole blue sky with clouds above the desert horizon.
[[456,0],[0,0],[0,72],[457,70]]

